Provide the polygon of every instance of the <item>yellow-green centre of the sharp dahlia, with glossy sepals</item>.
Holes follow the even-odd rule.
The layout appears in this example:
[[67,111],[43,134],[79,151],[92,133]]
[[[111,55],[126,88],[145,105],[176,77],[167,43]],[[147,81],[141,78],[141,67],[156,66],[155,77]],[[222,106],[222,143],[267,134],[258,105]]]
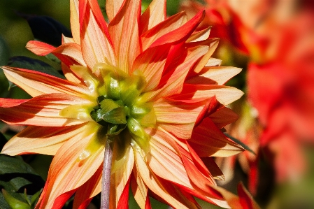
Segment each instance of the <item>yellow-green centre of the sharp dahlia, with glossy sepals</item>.
[[128,130],[138,143],[145,143],[145,127],[156,123],[151,103],[139,100],[145,87],[145,78],[138,72],[128,75],[105,64],[97,64],[104,85],[98,88],[98,105],[90,112],[92,119],[107,129],[107,136],[116,136]]

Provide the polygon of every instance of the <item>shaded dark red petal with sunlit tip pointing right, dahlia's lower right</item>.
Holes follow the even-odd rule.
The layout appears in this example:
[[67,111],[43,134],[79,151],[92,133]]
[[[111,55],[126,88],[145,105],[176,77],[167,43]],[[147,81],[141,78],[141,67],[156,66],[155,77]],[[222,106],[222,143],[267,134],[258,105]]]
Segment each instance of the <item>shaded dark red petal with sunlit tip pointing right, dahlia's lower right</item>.
[[224,136],[208,117],[193,130],[192,137],[188,141],[200,157],[229,157],[244,150]]

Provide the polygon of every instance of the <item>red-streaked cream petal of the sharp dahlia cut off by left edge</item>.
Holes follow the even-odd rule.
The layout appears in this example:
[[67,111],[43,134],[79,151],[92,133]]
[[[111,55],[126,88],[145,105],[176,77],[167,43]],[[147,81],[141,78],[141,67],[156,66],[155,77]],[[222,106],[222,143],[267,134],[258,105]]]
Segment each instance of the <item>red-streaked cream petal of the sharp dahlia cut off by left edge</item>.
[[[1,103],[7,103],[6,99],[0,99]],[[69,94],[44,94],[27,101],[15,103],[15,106],[0,107],[0,119],[8,124],[44,125],[45,127],[82,124],[92,120],[89,115],[82,115],[80,118],[66,118],[59,115],[59,112],[69,106],[76,104],[82,105],[84,103],[92,108],[90,101],[77,96]]]

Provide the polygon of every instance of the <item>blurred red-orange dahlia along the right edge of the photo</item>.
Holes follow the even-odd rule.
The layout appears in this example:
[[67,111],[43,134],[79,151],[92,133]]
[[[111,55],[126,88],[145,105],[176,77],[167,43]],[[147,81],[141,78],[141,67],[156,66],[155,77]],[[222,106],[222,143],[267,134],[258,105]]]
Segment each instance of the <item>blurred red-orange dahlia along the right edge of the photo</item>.
[[256,47],[261,58],[248,66],[248,99],[264,126],[260,144],[273,153],[280,182],[301,177],[307,166],[302,147],[313,144],[313,20],[311,10],[284,20],[271,15]]

